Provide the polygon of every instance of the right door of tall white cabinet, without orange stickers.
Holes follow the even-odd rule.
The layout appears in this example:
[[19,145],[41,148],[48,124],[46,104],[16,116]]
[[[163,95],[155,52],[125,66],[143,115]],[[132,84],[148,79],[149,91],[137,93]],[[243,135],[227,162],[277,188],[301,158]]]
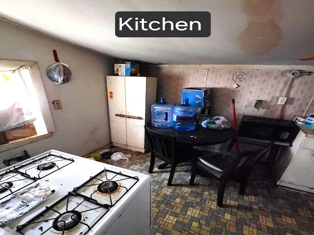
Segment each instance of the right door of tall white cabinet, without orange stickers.
[[126,114],[142,119],[127,118],[127,144],[144,148],[146,77],[125,77]]

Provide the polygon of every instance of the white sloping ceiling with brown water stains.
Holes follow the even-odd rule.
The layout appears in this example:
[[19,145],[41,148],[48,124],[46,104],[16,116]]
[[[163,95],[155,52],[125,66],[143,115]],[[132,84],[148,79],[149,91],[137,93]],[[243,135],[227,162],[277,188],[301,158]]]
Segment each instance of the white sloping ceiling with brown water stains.
[[[162,64],[313,65],[314,0],[0,0],[0,16],[123,59]],[[118,11],[209,11],[207,38],[118,38]]]

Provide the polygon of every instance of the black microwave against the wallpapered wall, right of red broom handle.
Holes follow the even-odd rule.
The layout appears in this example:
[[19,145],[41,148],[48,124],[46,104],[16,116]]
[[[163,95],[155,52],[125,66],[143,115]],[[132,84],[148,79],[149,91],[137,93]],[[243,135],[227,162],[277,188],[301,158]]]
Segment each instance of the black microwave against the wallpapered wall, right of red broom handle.
[[243,116],[238,129],[239,137],[285,142],[292,145],[300,128],[290,120]]

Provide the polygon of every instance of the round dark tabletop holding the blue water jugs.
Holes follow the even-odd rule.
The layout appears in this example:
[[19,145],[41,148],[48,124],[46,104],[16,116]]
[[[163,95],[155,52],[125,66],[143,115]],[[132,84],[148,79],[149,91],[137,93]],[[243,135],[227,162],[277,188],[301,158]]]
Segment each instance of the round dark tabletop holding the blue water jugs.
[[193,131],[177,131],[173,128],[157,128],[152,126],[152,123],[146,125],[151,131],[165,135],[176,136],[176,142],[193,146],[205,146],[223,143],[235,137],[235,129],[216,130],[204,128],[201,125],[196,125]]

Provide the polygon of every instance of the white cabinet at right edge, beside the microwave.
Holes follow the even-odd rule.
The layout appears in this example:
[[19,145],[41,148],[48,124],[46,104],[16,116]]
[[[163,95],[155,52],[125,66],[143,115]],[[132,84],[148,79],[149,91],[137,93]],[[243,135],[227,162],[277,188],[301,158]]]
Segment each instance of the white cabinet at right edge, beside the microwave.
[[314,131],[300,128],[292,147],[283,148],[276,158],[273,173],[279,186],[314,193]]

